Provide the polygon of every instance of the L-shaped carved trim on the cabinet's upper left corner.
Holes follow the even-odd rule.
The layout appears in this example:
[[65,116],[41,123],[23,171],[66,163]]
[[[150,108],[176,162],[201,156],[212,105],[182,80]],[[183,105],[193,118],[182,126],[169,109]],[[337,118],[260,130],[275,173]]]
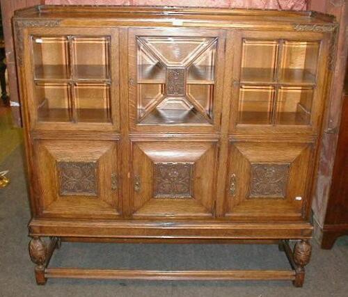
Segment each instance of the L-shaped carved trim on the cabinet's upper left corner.
[[23,65],[24,39],[23,31],[25,28],[52,28],[59,26],[61,19],[16,19],[15,20],[15,38],[16,38],[16,56],[19,65]]

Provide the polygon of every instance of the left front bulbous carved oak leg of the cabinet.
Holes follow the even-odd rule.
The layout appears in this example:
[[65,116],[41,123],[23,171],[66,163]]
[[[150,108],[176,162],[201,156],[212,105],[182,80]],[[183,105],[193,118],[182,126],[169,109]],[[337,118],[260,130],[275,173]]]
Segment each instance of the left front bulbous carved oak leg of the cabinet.
[[33,237],[29,243],[29,255],[35,266],[35,278],[37,284],[45,284],[45,262],[47,260],[47,244],[40,237]]

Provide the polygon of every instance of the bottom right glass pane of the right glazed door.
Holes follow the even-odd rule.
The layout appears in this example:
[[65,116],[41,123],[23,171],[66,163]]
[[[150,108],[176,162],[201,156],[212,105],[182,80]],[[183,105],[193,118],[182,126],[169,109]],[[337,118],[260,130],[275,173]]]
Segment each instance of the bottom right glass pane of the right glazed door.
[[281,87],[278,91],[276,123],[309,125],[313,88]]

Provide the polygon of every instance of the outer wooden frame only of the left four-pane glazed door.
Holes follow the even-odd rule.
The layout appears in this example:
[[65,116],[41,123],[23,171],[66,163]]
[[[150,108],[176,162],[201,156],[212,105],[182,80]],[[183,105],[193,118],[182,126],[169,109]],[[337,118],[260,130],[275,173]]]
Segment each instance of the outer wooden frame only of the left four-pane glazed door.
[[[31,36],[65,36],[77,35],[81,37],[109,36],[109,71],[111,77],[110,103],[111,123],[108,122],[38,122],[37,104],[35,102],[35,83],[33,53],[31,51]],[[29,113],[31,130],[74,130],[74,131],[120,131],[120,83],[119,83],[119,29],[118,28],[88,28],[88,27],[65,27],[65,28],[40,28],[29,27],[23,29],[24,45],[24,74],[26,81],[26,111]]]

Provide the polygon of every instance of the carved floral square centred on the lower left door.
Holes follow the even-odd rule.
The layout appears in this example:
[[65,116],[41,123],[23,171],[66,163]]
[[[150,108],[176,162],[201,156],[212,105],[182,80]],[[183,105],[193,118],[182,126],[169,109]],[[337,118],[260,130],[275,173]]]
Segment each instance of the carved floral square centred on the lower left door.
[[97,195],[97,162],[58,161],[60,195]]

